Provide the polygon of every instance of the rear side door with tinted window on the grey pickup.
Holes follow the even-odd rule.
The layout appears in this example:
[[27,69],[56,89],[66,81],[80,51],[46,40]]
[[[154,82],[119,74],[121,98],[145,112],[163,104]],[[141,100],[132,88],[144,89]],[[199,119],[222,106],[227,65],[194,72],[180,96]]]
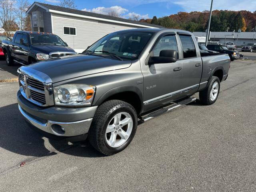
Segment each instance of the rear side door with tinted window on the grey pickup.
[[202,59],[196,50],[190,34],[178,34],[182,46],[182,85],[181,95],[189,96],[195,93],[199,87],[202,75]]

